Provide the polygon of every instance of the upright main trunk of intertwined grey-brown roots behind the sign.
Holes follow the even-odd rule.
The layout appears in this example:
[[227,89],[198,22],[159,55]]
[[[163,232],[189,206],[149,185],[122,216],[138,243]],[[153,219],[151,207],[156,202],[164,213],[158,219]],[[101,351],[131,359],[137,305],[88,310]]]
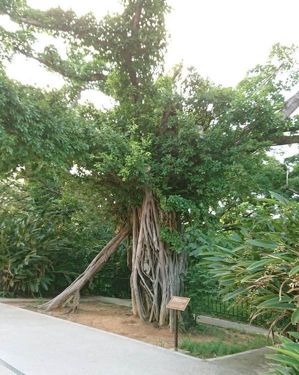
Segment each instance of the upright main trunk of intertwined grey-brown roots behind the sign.
[[174,329],[174,312],[166,309],[172,296],[183,293],[182,276],[186,273],[186,253],[171,251],[161,240],[160,222],[177,230],[174,212],[163,213],[146,191],[141,208],[133,211],[132,308],[141,320],[164,325],[169,318],[170,332]]

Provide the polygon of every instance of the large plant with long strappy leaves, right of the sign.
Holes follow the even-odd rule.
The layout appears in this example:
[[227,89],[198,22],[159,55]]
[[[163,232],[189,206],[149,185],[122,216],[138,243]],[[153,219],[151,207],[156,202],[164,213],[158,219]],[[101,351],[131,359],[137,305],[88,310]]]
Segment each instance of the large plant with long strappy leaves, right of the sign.
[[271,313],[270,329],[284,333],[297,330],[299,321],[299,204],[271,194],[201,255],[219,279],[223,300],[248,300],[251,320]]

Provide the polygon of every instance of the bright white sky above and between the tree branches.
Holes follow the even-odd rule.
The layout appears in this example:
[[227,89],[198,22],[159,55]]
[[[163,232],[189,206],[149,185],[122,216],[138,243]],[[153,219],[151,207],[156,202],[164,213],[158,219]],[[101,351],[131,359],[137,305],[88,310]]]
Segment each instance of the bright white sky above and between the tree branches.
[[[171,34],[166,68],[183,60],[216,84],[234,86],[246,71],[267,60],[273,44],[299,45],[298,0],[168,0],[173,7],[166,18]],[[100,18],[120,10],[117,0],[28,0],[46,9],[59,4],[77,14],[90,10]],[[50,86],[55,80],[32,62],[9,68],[11,77],[23,83]],[[297,88],[297,90],[299,87]],[[297,91],[296,90],[296,91]],[[295,151],[297,152],[297,151]],[[292,152],[294,153],[294,152]]]

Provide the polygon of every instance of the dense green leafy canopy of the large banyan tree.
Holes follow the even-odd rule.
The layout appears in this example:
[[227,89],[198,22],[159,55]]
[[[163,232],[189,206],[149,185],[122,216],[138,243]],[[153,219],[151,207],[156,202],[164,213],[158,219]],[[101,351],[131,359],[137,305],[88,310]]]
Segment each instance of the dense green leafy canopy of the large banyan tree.
[[[66,79],[61,90],[44,92],[11,82],[2,72],[3,165],[26,165],[27,174],[38,175],[41,162],[50,173],[51,165],[68,170],[78,161],[94,171],[118,221],[127,221],[128,207],[141,205],[145,186],[161,207],[188,221],[209,220],[219,201],[230,206],[265,192],[273,179],[253,178],[264,150],[297,126],[296,117],[280,123],[284,92],[298,80],[296,49],[275,45],[267,64],[253,68],[235,88],[216,86],[194,68],[182,75],[180,65],[164,74],[166,2],[122,3],[123,14],[98,21],[91,13],[77,17],[72,10],[43,12],[25,1],[0,2],[1,13],[18,23],[17,31],[0,30],[2,60],[20,53]],[[36,52],[43,32],[53,44]],[[65,41],[66,58],[56,39]],[[71,110],[78,90],[88,88],[110,95],[116,105]]]

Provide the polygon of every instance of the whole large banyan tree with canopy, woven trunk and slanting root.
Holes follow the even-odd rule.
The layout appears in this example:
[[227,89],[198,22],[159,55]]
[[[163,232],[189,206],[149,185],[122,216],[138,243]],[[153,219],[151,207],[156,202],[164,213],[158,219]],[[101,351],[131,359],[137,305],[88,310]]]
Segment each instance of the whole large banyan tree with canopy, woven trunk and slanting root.
[[[80,160],[91,171],[83,179],[101,192],[116,223],[116,236],[44,308],[67,301],[75,308],[80,289],[127,238],[133,314],[173,327],[166,305],[183,293],[184,228],[206,221],[219,201],[229,209],[241,192],[250,195],[249,176],[269,147],[299,142],[291,117],[299,93],[284,97],[298,81],[295,48],[275,45],[267,64],[235,88],[216,86],[181,64],[165,73],[166,1],[121,2],[121,14],[97,20],[0,0],[0,13],[16,25],[0,28],[1,60],[21,54],[65,79],[58,91],[24,91],[16,82],[9,88],[2,71],[0,132],[11,147],[1,148],[1,165],[29,170],[44,162],[67,170]],[[53,42],[40,52],[36,41],[45,33]],[[89,89],[113,98],[114,106],[79,104]]]

